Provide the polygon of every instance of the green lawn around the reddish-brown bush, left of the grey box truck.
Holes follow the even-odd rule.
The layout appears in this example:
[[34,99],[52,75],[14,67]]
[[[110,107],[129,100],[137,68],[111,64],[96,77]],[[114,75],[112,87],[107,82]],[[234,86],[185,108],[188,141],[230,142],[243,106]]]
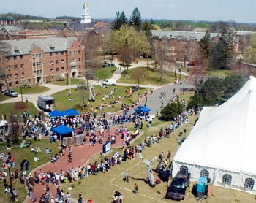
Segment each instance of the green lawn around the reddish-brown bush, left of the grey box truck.
[[[11,102],[11,103],[6,103],[6,104],[0,104],[0,115],[7,115],[7,120],[10,120],[10,115],[11,112],[14,115],[18,115],[18,120],[21,122],[21,117],[20,115],[23,114],[23,112],[27,112],[28,110],[13,110],[13,107],[15,106],[15,102]],[[29,108],[29,112],[31,115],[35,115],[37,113],[37,115],[39,114],[39,110],[37,110],[36,107],[34,107],[34,104],[31,102],[28,102],[28,104],[26,104],[26,106]]]

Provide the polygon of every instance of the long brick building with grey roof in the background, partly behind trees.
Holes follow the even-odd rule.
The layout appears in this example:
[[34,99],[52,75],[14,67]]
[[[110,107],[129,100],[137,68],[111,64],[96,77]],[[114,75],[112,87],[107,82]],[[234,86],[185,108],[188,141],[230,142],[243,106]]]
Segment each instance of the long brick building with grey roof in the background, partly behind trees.
[[[252,31],[232,31],[235,38],[234,51],[241,53],[249,45]],[[197,31],[151,31],[154,47],[165,46],[166,55],[170,61],[195,61],[197,53],[200,52],[200,39],[205,36],[205,32]],[[220,33],[211,33],[211,42],[216,45]]]

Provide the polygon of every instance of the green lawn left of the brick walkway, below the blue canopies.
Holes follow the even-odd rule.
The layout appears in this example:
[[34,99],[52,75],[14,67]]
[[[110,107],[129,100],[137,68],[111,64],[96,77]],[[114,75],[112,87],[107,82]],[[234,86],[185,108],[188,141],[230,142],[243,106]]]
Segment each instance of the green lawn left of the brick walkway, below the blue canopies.
[[[31,172],[32,169],[35,169],[37,166],[40,166],[42,164],[45,164],[49,161],[50,155],[45,154],[45,147],[47,146],[51,150],[53,150],[53,154],[59,153],[59,144],[58,143],[52,143],[47,139],[42,139],[41,141],[34,141],[34,139],[31,139],[32,146],[36,148],[37,146],[42,150],[42,152],[37,153],[37,157],[39,158],[39,161],[34,161],[34,153],[31,153],[31,148],[19,148],[18,145],[15,145],[12,147],[12,150],[10,150],[10,153],[12,153],[12,156],[15,158],[15,168],[20,170],[20,162],[26,158],[30,165],[29,165],[29,172]],[[0,153],[7,154],[9,151],[3,151],[3,145],[0,145]],[[0,161],[0,164],[2,164],[2,161]],[[29,174],[27,172],[27,175]],[[9,180],[9,178],[8,178]],[[23,203],[26,199],[26,188],[24,185],[20,184],[19,180],[16,180],[15,183],[12,185],[13,188],[16,189],[19,196],[19,203]],[[0,182],[0,202],[11,202],[10,196],[3,193],[4,191],[4,184],[3,182]]]

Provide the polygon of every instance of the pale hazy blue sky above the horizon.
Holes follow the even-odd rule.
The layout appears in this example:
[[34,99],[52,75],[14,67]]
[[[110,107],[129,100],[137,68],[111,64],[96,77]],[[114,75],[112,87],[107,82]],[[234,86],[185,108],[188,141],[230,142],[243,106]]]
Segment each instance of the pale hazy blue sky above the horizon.
[[[175,20],[235,20],[256,23],[256,0],[86,0],[91,18],[115,18],[118,10],[127,17],[138,7],[142,18]],[[54,18],[80,17],[83,0],[0,0],[0,13]]]

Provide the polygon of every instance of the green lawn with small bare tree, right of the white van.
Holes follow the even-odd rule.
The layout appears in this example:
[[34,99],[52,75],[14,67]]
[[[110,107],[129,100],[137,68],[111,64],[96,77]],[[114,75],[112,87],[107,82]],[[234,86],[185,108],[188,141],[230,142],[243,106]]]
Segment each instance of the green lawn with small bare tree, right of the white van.
[[[173,83],[175,80],[174,73],[163,71],[162,81],[160,81],[159,72],[152,71],[146,67],[139,67],[136,69],[146,69],[148,72],[148,77],[144,78],[140,84],[143,85],[167,85],[169,83]],[[132,74],[135,72],[135,69],[128,69],[128,74],[122,74],[121,78],[117,81],[118,83],[129,83],[129,84],[137,84],[136,80],[132,79]],[[130,80],[128,80],[128,76],[130,76]],[[176,74],[176,77],[179,77],[179,74]],[[181,75],[181,80],[184,79],[184,76]]]

